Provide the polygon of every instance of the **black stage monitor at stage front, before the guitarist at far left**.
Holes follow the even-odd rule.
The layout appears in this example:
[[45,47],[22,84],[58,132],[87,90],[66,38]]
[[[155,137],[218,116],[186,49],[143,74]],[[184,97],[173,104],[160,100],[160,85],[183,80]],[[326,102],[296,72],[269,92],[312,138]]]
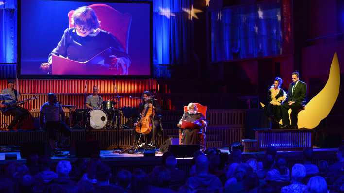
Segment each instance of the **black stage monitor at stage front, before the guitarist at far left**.
[[49,155],[47,143],[23,143],[20,148],[21,158],[28,158],[30,155]]

